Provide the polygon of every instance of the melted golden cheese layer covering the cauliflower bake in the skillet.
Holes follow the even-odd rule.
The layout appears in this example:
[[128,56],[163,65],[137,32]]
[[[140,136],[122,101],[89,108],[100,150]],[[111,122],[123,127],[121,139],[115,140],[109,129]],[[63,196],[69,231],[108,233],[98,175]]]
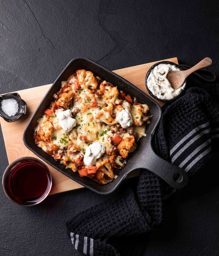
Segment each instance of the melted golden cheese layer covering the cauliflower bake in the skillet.
[[[76,120],[76,126],[70,129],[69,132],[65,132],[61,127],[62,125],[60,125],[57,114],[59,111],[65,111],[66,108],[58,108],[55,110],[54,116],[48,118],[43,115],[38,120],[35,131],[39,132],[45,120],[48,120],[52,124],[53,129],[50,141],[39,141],[37,144],[46,152],[54,145],[57,146],[58,149],[52,152],[50,150],[50,154],[55,159],[58,156],[58,159],[66,165],[66,168],[72,168],[73,171],[77,171],[77,168],[72,163],[77,158],[82,157],[83,159],[87,148],[93,143],[99,142],[103,145],[105,153],[103,153],[100,159],[96,159],[95,161],[97,164],[106,161],[105,172],[109,173],[110,177],[114,177],[111,171],[111,165],[107,162],[111,152],[116,152],[116,146],[112,143],[114,133],[122,139],[130,136],[130,134],[135,135],[136,140],[141,136],[146,136],[144,132],[146,124],[143,124],[146,119],[142,115],[142,111],[148,111],[148,107],[147,105],[140,104],[131,106],[126,100],[118,98],[116,87],[110,87],[108,85],[103,95],[94,94],[91,88],[95,88],[96,84],[92,79],[89,80],[87,74],[85,75],[83,72],[80,74],[79,79],[81,89],[77,89],[77,86],[74,84],[76,80],[76,75],[74,74],[68,78],[67,82],[69,84],[66,81],[62,82],[63,90],[67,84],[71,88],[71,90],[68,89],[68,92],[73,93],[73,102],[68,106],[68,111],[71,110],[73,113],[72,118]],[[138,106],[141,106],[141,111],[138,111]],[[122,110],[130,112],[133,119],[133,124],[129,123],[128,126],[131,126],[127,127],[126,131],[121,130],[121,126],[118,125],[115,118],[117,113]],[[145,120],[142,120],[142,118]],[[134,123],[136,120],[139,122],[137,125]],[[116,156],[116,158],[120,159],[121,156]],[[68,159],[68,161],[65,159]],[[92,164],[95,164],[95,162],[92,162]],[[122,166],[121,163],[120,165]]]

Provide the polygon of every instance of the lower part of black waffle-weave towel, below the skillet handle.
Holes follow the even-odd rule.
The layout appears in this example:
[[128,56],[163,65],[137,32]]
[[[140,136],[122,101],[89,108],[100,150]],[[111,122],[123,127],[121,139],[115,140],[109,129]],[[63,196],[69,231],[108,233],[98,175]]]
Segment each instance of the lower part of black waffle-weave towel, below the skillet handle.
[[[137,237],[130,238],[131,243],[127,243],[127,237],[144,234],[161,223],[162,184],[163,181],[155,174],[142,171],[137,193],[128,188],[119,197],[94,206],[68,222],[70,238],[71,233],[79,235],[79,243],[80,237],[81,242],[84,242],[84,237],[93,238],[93,253],[90,255],[133,255]],[[110,237],[112,239],[106,243],[106,239]],[[138,250],[139,248],[140,246]],[[87,247],[88,249],[90,253],[90,248]],[[144,247],[140,253],[143,250]],[[87,251],[86,253],[89,255]]]

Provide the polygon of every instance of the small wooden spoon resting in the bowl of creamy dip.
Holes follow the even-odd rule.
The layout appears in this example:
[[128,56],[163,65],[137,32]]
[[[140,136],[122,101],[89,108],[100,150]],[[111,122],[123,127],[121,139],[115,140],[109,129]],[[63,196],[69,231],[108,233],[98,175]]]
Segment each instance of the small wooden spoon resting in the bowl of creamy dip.
[[178,89],[182,86],[187,76],[189,76],[191,73],[195,72],[198,69],[205,68],[207,66],[210,66],[212,63],[212,60],[210,58],[204,58],[201,60],[198,64],[196,64],[194,67],[183,70],[183,71],[170,71],[167,74],[167,79],[169,80],[171,86],[173,89]]

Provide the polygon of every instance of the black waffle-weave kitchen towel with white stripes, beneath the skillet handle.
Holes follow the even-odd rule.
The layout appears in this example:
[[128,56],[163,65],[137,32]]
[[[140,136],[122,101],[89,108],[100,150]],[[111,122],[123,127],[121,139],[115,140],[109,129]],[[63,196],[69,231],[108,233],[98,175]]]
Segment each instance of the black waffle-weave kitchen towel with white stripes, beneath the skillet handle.
[[[219,149],[219,84],[201,87],[165,104],[153,137],[155,152],[191,175]],[[136,190],[128,188],[66,224],[73,247],[91,256],[142,255],[144,234],[162,221],[166,187],[155,174],[142,170]]]

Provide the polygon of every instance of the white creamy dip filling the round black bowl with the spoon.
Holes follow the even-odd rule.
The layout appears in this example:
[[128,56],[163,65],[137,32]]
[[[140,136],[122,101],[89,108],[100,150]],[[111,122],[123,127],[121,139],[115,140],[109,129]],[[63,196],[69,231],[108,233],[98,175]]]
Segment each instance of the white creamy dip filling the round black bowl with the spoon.
[[176,90],[172,88],[170,82],[166,78],[170,70],[175,71],[180,69],[174,65],[162,63],[155,66],[148,75],[147,87],[158,99],[172,100],[185,89],[186,82]]

